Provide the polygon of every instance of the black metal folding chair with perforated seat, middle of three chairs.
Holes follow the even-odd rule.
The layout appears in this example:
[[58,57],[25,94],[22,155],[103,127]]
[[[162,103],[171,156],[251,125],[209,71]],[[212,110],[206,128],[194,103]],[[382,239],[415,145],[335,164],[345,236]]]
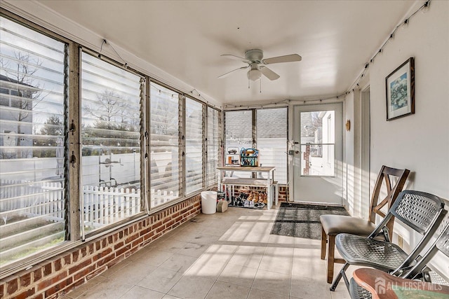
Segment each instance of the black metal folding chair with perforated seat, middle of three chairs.
[[[330,286],[330,291],[335,291],[342,277],[349,289],[349,281],[344,273],[349,265],[374,267],[391,274],[396,274],[404,267],[412,265],[436,232],[446,212],[441,198],[429,193],[404,190],[398,195],[387,216],[368,237],[351,234],[337,235],[335,246],[346,263]],[[387,223],[393,217],[422,235],[420,242],[410,254],[389,241]],[[376,240],[375,237],[379,235],[384,235],[386,240]]]

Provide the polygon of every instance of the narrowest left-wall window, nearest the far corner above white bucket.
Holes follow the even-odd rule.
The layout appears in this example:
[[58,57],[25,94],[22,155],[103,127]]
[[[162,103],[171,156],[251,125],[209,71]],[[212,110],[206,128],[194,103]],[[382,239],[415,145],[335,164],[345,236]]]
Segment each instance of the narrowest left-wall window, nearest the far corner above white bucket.
[[221,113],[217,109],[208,107],[208,132],[207,132],[207,186],[217,184],[217,167],[221,165]]

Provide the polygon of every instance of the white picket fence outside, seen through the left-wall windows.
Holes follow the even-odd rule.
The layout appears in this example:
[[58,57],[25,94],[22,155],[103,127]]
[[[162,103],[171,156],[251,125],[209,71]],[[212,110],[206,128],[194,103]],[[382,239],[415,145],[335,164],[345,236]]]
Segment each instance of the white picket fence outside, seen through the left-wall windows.
[[[87,227],[98,228],[143,211],[141,191],[134,188],[83,186],[83,221]],[[179,197],[167,190],[151,190],[151,207]],[[8,221],[14,215],[44,216],[47,220],[64,218],[64,187],[62,181],[29,182],[0,181],[0,216]]]

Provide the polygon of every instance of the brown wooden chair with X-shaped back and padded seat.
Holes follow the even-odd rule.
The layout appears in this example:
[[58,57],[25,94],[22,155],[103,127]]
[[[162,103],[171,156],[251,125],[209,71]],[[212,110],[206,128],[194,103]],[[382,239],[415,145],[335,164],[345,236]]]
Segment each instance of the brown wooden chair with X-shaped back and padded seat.
[[[387,209],[391,208],[394,200],[398,197],[398,194],[402,191],[403,186],[407,181],[408,169],[396,169],[387,167],[385,165],[380,169],[379,175],[375,183],[373,190],[373,196],[370,202],[370,214],[368,220],[358,217],[342,216],[342,215],[321,215],[321,259],[326,258],[326,243],[328,244],[328,284],[332,282],[334,277],[334,263],[344,263],[342,258],[335,258],[335,236],[340,233],[348,233],[352,235],[359,235],[368,237],[371,232],[376,228],[375,221],[376,216],[382,217],[385,214],[381,211],[382,207],[387,206]],[[391,181],[396,181],[392,184]],[[380,200],[380,190],[382,186],[387,189],[387,196],[383,200]],[[393,232],[393,223],[388,223],[390,233]],[[391,235],[390,235],[391,237]]]

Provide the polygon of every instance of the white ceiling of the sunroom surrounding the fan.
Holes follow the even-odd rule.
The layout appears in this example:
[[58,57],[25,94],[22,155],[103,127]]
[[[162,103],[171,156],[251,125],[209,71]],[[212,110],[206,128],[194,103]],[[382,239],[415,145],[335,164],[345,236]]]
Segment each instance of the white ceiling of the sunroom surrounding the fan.
[[[47,1],[57,13],[103,36],[222,104],[341,95],[415,1]],[[250,83],[246,64],[297,53],[301,62],[270,64],[281,76]]]

